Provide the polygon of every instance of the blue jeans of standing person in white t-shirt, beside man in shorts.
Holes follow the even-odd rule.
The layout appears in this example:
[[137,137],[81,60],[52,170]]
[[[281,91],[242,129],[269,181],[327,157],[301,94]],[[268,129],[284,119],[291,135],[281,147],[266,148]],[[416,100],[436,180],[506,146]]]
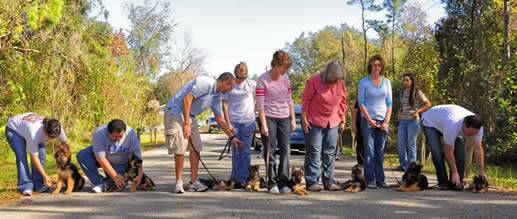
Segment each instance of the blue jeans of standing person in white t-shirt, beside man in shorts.
[[248,166],[251,163],[251,140],[254,137],[257,124],[255,121],[247,123],[232,122],[235,136],[244,143],[242,147],[232,144],[232,175],[231,178],[242,184],[248,179]]

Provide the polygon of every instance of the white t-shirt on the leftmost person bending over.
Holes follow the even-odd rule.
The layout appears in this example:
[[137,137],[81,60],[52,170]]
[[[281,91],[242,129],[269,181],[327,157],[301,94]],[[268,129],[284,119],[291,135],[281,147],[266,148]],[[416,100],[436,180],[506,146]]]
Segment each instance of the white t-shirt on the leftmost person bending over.
[[[7,120],[7,127],[18,133],[18,135],[25,138],[29,153],[38,155],[38,145],[48,141],[48,137],[43,134],[43,119],[44,116],[36,113],[25,113],[17,116],[13,116]],[[66,134],[63,127],[57,137],[59,141],[66,141]]]

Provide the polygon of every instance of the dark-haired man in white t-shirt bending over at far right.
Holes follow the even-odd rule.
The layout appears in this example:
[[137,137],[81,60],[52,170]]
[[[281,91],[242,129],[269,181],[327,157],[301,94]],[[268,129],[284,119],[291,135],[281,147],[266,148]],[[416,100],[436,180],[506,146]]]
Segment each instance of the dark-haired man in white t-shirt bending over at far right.
[[[452,187],[462,188],[465,172],[465,141],[464,136],[474,140],[474,154],[479,174],[486,178],[483,147],[483,122],[481,118],[458,105],[438,105],[427,110],[422,115],[422,131],[431,149],[433,164],[441,190]],[[442,156],[441,137],[445,142],[443,154],[447,159],[450,178],[447,177]]]

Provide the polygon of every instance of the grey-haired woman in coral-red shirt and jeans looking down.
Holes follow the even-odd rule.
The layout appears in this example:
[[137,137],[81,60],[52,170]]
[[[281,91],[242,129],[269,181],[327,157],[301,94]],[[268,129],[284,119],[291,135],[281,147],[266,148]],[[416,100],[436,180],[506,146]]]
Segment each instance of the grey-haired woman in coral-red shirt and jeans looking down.
[[[333,163],[338,131],[345,129],[345,69],[339,60],[330,62],[325,70],[312,76],[302,96],[302,122],[305,132],[305,183],[310,191],[320,191],[320,166],[323,186],[336,191]],[[339,129],[339,130],[338,130]],[[322,163],[320,164],[320,160]]]

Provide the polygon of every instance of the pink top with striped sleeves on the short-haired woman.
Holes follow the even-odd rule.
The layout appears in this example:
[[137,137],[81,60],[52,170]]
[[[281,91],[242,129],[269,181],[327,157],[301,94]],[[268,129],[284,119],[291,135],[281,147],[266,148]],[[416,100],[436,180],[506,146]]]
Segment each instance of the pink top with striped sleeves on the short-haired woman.
[[293,105],[291,98],[291,81],[284,74],[277,81],[273,81],[269,72],[262,74],[255,89],[257,108],[264,110],[267,117],[289,117],[289,105]]

